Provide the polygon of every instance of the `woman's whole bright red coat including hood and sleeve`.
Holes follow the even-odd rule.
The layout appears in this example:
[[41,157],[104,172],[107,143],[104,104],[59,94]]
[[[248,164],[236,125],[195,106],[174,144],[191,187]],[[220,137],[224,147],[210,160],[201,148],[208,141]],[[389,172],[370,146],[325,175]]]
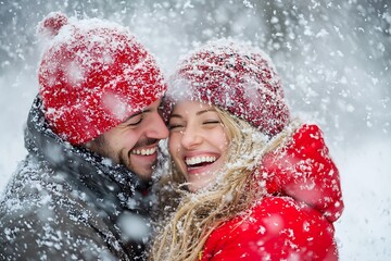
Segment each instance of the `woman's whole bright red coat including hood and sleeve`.
[[319,128],[301,127],[264,157],[261,174],[269,195],[212,232],[199,260],[338,260],[332,222],[343,202]]

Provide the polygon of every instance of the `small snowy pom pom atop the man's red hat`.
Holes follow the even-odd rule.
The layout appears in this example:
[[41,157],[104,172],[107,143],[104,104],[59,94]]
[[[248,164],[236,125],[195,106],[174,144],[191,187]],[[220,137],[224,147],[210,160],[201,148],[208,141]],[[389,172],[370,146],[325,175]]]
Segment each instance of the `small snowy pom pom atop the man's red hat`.
[[47,37],[54,37],[59,34],[61,27],[66,24],[67,17],[65,14],[52,12],[39,23],[38,33]]

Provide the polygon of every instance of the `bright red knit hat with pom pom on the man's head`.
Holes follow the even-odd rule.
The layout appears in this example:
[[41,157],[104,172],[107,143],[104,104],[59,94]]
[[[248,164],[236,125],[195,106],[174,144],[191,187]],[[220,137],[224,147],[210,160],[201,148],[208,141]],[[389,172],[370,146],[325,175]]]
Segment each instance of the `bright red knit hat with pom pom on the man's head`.
[[123,26],[51,13],[38,30],[51,38],[38,72],[45,115],[73,145],[118,125],[166,90],[154,58]]

